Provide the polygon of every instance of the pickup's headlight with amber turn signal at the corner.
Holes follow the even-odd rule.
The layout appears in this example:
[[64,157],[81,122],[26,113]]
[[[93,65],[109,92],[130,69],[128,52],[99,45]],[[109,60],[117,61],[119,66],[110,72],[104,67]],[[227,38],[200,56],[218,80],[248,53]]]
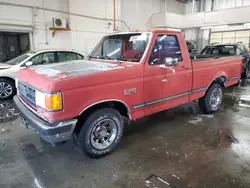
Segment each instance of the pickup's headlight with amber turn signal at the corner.
[[36,91],[36,105],[47,111],[62,110],[62,94],[60,92],[49,94]]

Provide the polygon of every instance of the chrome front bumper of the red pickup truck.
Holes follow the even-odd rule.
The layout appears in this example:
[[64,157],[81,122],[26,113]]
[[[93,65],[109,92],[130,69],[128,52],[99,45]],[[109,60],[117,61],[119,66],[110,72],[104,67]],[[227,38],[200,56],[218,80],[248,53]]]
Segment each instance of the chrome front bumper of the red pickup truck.
[[72,136],[77,119],[49,123],[31,112],[17,96],[14,97],[14,102],[20,111],[23,124],[37,132],[45,141],[54,145]]

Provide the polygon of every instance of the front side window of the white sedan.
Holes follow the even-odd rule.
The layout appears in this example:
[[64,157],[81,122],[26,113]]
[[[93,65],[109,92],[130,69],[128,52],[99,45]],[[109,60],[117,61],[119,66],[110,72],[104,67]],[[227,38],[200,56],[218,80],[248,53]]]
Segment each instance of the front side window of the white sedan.
[[55,55],[54,52],[46,52],[35,56],[31,61],[33,65],[55,63]]

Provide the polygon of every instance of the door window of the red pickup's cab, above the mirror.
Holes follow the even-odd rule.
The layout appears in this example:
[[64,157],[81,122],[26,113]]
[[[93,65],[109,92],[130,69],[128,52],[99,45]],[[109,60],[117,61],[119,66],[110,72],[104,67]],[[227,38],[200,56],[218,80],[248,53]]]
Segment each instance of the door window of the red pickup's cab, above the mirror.
[[182,61],[180,45],[175,35],[157,36],[150,55],[150,64],[162,64],[166,57],[177,58]]

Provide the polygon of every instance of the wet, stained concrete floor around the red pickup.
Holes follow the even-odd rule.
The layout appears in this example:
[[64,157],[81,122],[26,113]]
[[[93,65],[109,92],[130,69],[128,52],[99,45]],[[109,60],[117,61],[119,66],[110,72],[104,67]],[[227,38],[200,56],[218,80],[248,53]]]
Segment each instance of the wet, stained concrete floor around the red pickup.
[[12,119],[11,105],[0,104],[8,121],[0,124],[0,188],[250,187],[250,80],[225,89],[214,115],[190,103],[132,123],[120,147],[98,160],[72,142],[44,144]]

